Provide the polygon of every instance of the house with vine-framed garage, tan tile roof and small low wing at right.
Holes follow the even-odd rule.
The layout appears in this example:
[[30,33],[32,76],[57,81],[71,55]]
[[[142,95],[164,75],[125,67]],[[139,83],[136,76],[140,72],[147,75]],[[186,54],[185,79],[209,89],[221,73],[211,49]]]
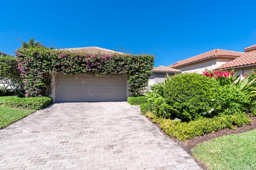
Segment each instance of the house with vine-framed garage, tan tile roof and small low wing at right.
[[[89,54],[124,54],[100,47],[62,49]],[[166,73],[173,75],[180,70],[159,66],[154,68],[149,79],[150,85],[164,81]],[[90,74],[52,74],[53,102],[126,101],[130,96],[127,74],[94,76]]]

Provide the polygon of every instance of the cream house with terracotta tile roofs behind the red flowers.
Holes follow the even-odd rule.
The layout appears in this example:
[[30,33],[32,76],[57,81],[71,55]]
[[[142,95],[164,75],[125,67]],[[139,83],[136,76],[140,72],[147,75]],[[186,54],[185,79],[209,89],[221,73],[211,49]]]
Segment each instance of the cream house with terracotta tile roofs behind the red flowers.
[[223,49],[214,49],[182,61],[169,65],[169,68],[175,68],[184,72],[202,73],[206,68],[208,70],[235,69],[235,72],[243,78],[245,72],[256,67],[256,45],[244,48],[245,52],[230,51]]

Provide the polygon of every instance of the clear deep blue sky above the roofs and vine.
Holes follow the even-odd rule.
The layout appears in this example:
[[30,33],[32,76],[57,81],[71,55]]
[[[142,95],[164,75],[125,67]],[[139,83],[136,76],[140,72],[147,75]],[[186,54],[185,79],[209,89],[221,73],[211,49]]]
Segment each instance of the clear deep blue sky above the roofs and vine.
[[156,55],[168,66],[210,51],[256,44],[255,0],[5,0],[0,51],[20,41],[56,48],[102,47]]

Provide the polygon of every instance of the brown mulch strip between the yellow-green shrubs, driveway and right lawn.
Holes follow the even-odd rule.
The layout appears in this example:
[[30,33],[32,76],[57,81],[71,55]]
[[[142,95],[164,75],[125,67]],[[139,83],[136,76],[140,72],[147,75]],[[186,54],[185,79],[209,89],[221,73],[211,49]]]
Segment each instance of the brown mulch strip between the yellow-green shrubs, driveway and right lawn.
[[[182,147],[184,150],[186,150],[186,152],[188,152],[188,154],[190,154],[190,156],[192,156],[196,162],[199,164],[199,166],[203,169],[203,170],[208,170],[208,168],[206,166],[204,166],[204,164],[202,164],[201,162],[199,162],[199,160],[197,160],[191,153],[191,149],[196,147],[198,144],[203,143],[204,141],[210,141],[210,139],[214,139],[216,137],[220,137],[220,136],[224,136],[224,135],[230,135],[230,134],[237,134],[237,133],[242,133],[242,132],[247,132],[253,129],[256,129],[256,117],[249,117],[250,119],[252,119],[252,123],[250,123],[250,125],[243,125],[241,127],[236,127],[236,129],[234,130],[230,130],[230,129],[221,129],[215,133],[209,133],[209,134],[205,134],[203,136],[199,136],[199,137],[194,137],[192,139],[188,139],[186,141],[179,141],[176,138],[173,138],[169,135],[166,134],[165,131],[163,131],[162,129],[160,129],[159,123],[154,123],[154,125],[156,125],[160,131],[168,138],[172,139],[174,142],[176,142],[180,147]],[[151,119],[149,119],[151,121]]]

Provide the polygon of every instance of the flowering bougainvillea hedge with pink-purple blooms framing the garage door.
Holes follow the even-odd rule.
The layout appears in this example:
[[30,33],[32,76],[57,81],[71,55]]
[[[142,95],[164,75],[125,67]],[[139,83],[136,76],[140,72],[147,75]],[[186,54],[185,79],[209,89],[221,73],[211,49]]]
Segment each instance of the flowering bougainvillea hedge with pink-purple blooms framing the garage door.
[[26,96],[49,96],[51,74],[128,74],[129,91],[138,96],[153,68],[153,55],[102,55],[52,50],[44,47],[16,51]]

